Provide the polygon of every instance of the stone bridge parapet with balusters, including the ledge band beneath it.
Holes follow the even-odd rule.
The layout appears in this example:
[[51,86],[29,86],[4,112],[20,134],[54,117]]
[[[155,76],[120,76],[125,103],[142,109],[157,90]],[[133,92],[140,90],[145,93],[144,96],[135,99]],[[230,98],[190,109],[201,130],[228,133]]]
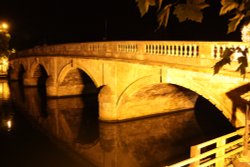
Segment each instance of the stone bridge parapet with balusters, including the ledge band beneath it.
[[[100,58],[138,61],[143,64],[172,64],[192,68],[211,69],[226,48],[249,47],[244,42],[204,41],[113,41],[38,46],[17,52],[11,59],[22,57]],[[250,59],[248,59],[249,61]],[[237,60],[223,70],[234,72]],[[249,70],[247,71],[249,72]],[[234,75],[234,74],[233,74]]]

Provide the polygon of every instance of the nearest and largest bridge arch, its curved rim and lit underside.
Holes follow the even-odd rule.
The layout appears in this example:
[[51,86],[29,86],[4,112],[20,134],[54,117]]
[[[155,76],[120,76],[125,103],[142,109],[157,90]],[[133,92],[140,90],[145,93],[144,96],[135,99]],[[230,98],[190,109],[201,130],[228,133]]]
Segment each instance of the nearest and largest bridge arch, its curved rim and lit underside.
[[[167,100],[170,100],[170,101],[175,100],[173,102],[176,103],[176,110],[181,110],[181,107],[191,109],[195,107],[195,103],[196,103],[198,96],[202,96],[205,99],[207,99],[211,104],[213,104],[216,108],[218,108],[223,113],[223,115],[229,121],[231,121],[232,124],[237,126],[237,123],[232,122],[232,118],[235,117],[234,115],[235,113],[231,111],[230,104],[228,103],[228,101],[230,100],[228,99],[228,97],[224,94],[218,94],[218,92],[216,91],[217,89],[213,90],[212,89],[213,86],[209,87],[208,85],[204,85],[204,83],[209,84],[210,83],[209,79],[205,82],[200,82],[199,80],[194,80],[192,78],[190,79],[185,78],[185,82],[183,82],[183,80],[181,80],[178,77],[177,78],[172,77],[171,79],[167,79],[166,81],[162,82],[160,80],[159,75],[150,75],[150,76],[141,77],[137,79],[136,81],[134,81],[133,83],[131,83],[130,85],[128,85],[126,89],[119,95],[117,102],[116,102],[117,117],[119,119],[123,119],[123,118],[129,119],[130,117],[131,118],[140,117],[140,115],[152,115],[152,114],[174,111],[174,109],[171,108],[172,106],[168,106],[167,108],[164,108],[164,105],[160,104],[160,102],[162,102],[168,105],[166,103]],[[137,101],[138,102],[137,104],[132,102],[132,101],[136,101],[134,97],[138,96],[139,92],[141,92],[141,97],[138,96],[138,99],[142,99],[142,98],[146,98],[145,97],[146,95],[143,95],[142,91],[149,92],[150,89],[157,90],[157,89],[165,89],[165,88],[169,89],[169,91],[172,91],[174,93],[171,95],[172,97],[178,96],[178,100],[176,100],[177,98],[172,99],[171,97],[167,97],[167,96],[166,97],[155,96],[155,100],[152,100],[152,101],[148,100],[147,104],[146,103],[142,104],[142,100]],[[183,95],[178,94],[178,92],[182,92],[182,91],[186,93],[182,93]],[[187,98],[185,96],[187,96]],[[178,104],[179,99],[182,99],[181,103],[183,104],[183,106],[181,106],[181,104],[180,105]],[[156,101],[159,101],[159,103]],[[141,105],[140,108],[139,108],[139,105]],[[150,105],[154,105],[154,106],[148,107]],[[138,108],[134,106],[138,106]],[[126,115],[125,113],[128,113],[127,111],[129,111],[130,108],[133,108],[133,111],[135,111],[135,113]],[[152,111],[152,110],[155,110],[155,111]]]

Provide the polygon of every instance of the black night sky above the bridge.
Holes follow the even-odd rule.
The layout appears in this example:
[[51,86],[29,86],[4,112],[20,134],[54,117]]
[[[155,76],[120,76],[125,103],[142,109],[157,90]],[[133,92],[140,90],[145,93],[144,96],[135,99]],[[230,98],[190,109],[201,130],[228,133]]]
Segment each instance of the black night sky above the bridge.
[[[240,40],[226,35],[227,20],[219,17],[219,1],[205,9],[202,24],[178,23],[156,31],[154,10],[141,18],[135,0],[1,0],[0,20],[10,23],[11,46],[107,40]],[[105,22],[107,29],[105,31]],[[105,35],[106,34],[106,35]]]

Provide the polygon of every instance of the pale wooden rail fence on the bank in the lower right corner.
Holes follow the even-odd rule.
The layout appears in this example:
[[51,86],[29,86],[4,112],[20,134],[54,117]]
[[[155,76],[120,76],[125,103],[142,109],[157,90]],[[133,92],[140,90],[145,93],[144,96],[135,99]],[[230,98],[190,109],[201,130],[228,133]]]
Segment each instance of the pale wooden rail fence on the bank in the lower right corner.
[[[239,129],[235,132],[229,133],[227,135],[209,140],[207,142],[195,145],[191,147],[191,158],[183,160],[181,162],[178,162],[176,164],[172,164],[165,167],[183,167],[190,165],[192,167],[205,167],[212,164],[215,164],[216,166],[224,166],[224,159],[228,158],[230,156],[236,155],[243,151],[243,133],[244,128]],[[241,136],[238,139],[232,140],[230,142],[227,142],[228,139]],[[201,152],[202,149],[215,145],[214,149],[210,149],[205,152]],[[202,159],[207,158],[209,156],[214,155],[214,158],[204,160],[204,162],[201,162]]]

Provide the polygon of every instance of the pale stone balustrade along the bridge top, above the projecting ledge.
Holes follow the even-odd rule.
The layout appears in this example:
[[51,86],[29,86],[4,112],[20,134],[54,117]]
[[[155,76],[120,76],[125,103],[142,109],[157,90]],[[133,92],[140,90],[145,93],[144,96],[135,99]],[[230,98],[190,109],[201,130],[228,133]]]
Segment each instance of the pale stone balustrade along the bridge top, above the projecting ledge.
[[[37,46],[17,52],[11,59],[39,55],[81,55],[126,58],[127,55],[167,55],[218,59],[226,47],[249,47],[244,42],[111,41]],[[118,54],[122,53],[122,54]],[[131,58],[130,56],[127,58]]]

